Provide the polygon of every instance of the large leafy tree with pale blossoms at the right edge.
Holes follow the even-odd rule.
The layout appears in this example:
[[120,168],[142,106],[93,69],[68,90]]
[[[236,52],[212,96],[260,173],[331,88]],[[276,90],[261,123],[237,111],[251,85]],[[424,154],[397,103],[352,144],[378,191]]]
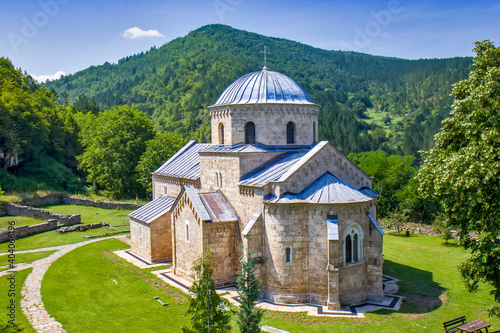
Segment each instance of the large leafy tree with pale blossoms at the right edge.
[[[471,257],[460,266],[467,286],[493,286],[500,303],[500,48],[477,42],[474,70],[453,87],[452,112],[423,154],[423,195],[435,197]],[[500,316],[500,307],[492,312]]]

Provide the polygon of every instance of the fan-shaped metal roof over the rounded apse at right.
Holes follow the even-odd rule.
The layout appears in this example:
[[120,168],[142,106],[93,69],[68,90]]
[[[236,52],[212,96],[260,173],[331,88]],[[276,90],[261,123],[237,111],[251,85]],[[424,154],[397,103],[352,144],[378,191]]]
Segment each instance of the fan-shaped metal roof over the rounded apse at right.
[[370,201],[372,198],[342,182],[327,172],[298,194],[285,193],[277,198],[268,195],[264,202],[269,203],[320,203],[341,204]]

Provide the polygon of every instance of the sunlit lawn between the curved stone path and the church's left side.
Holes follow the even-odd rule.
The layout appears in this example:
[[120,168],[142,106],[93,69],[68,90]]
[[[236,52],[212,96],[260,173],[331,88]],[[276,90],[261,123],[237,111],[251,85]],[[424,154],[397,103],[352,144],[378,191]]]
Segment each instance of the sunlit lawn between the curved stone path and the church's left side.
[[42,284],[47,311],[72,333],[179,332],[188,324],[184,295],[110,252],[122,248],[116,239],[104,240],[54,262]]

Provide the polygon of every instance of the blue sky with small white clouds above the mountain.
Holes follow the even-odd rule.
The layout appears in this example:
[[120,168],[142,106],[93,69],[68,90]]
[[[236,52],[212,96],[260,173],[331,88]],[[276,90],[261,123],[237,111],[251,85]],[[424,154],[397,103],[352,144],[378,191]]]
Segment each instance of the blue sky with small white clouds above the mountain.
[[37,77],[70,74],[223,23],[328,50],[446,58],[500,45],[499,18],[500,0],[0,0],[0,56]]

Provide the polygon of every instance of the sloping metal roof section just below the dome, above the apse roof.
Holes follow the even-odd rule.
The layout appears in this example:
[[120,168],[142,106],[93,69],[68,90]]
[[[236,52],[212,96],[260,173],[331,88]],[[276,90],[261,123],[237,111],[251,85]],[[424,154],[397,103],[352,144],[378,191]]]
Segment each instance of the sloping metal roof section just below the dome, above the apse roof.
[[278,156],[270,163],[258,168],[255,171],[243,176],[238,185],[262,187],[270,181],[278,180],[285,174],[295,163],[297,163],[305,152],[286,153]]

